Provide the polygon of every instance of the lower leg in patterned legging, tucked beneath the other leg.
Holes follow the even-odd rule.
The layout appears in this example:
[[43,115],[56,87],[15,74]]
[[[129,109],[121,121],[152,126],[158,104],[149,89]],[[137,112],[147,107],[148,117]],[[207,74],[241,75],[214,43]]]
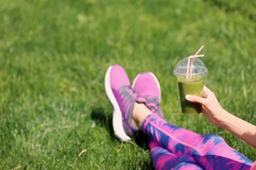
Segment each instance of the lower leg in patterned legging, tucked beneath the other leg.
[[176,156],[150,139],[148,141],[150,155],[155,169],[200,169],[196,160],[192,156]]

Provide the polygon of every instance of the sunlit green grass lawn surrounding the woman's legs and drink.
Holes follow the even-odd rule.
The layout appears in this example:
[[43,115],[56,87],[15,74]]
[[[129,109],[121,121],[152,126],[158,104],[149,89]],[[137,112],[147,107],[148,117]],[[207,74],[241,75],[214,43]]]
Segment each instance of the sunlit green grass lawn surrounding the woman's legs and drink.
[[143,136],[114,136],[104,74],[115,63],[131,80],[155,73],[169,122],[221,135],[255,161],[202,114],[181,114],[173,75],[203,44],[205,85],[256,124],[256,3],[242,2],[0,0],[0,169],[152,169]]

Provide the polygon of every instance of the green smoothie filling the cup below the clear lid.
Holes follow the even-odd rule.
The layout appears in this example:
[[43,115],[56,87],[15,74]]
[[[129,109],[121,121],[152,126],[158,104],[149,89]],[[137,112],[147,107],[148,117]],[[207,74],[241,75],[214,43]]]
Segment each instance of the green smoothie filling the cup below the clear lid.
[[188,78],[178,77],[179,94],[181,99],[181,110],[184,114],[197,114],[202,112],[200,103],[192,103],[185,99],[185,96],[198,95],[202,97],[203,77]]

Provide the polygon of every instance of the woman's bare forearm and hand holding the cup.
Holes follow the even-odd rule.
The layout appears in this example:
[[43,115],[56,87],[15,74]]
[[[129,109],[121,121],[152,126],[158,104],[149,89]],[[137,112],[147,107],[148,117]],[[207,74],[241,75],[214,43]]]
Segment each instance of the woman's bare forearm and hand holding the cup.
[[203,97],[186,95],[191,102],[202,104],[202,113],[215,126],[226,129],[236,137],[256,148],[256,126],[246,122],[221,107],[215,94],[207,87],[203,87]]

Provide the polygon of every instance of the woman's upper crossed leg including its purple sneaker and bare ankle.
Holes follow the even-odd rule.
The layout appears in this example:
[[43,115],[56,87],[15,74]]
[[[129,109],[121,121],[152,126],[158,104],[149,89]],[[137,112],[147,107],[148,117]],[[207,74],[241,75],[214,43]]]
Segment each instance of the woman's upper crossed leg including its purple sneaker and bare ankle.
[[119,65],[108,68],[105,90],[113,107],[114,132],[128,141],[139,128],[150,139],[178,157],[192,156],[204,169],[247,169],[252,164],[216,135],[201,136],[173,126],[152,113],[144,104],[135,103],[138,93],[131,88],[129,77]]

